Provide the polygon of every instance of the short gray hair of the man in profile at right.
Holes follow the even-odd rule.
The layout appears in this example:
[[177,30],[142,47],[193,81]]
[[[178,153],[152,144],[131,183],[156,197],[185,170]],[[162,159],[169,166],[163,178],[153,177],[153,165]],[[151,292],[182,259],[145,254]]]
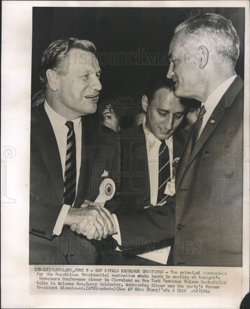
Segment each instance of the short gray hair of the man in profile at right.
[[239,36],[231,21],[222,15],[204,14],[185,20],[174,33],[184,29],[187,35],[208,42],[218,55],[230,59],[234,66],[239,57]]

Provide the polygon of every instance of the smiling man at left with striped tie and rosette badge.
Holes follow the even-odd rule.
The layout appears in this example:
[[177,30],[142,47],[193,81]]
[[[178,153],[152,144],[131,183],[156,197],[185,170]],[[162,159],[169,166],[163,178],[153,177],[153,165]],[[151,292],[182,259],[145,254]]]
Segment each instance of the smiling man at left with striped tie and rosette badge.
[[[104,207],[79,208],[99,194],[104,170],[118,175],[120,165],[119,145],[105,138],[112,132],[85,117],[96,111],[102,89],[95,52],[90,41],[60,39],[40,59],[45,100],[31,111],[30,264],[77,264],[78,258],[82,264],[95,264],[95,254],[80,257],[72,243],[60,243],[56,236],[68,233],[80,242],[63,226],[84,218],[95,223],[99,239],[113,229]],[[105,149],[110,155],[101,151]],[[85,252],[95,251],[87,240],[81,241]],[[59,244],[67,248],[61,250]]]

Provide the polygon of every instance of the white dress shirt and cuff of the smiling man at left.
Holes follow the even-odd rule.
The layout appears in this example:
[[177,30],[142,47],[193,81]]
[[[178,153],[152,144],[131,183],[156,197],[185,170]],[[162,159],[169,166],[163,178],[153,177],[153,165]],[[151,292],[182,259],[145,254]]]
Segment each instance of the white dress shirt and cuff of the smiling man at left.
[[[52,125],[56,140],[57,146],[60,153],[61,158],[61,166],[62,166],[62,177],[64,181],[64,172],[65,172],[65,161],[66,161],[66,150],[67,150],[67,134],[69,132],[69,128],[65,125],[67,119],[57,114],[46,102],[44,101],[44,108],[49,117],[49,121]],[[81,117],[72,120],[74,123],[74,133],[75,133],[75,141],[76,141],[76,194],[77,194],[77,186],[78,179],[80,174],[80,166],[81,166],[81,147],[82,147],[82,122]],[[62,231],[62,227],[66,218],[66,215],[69,211],[70,205],[64,204],[61,208],[60,214],[57,218],[56,224],[53,229],[53,234],[60,235]]]

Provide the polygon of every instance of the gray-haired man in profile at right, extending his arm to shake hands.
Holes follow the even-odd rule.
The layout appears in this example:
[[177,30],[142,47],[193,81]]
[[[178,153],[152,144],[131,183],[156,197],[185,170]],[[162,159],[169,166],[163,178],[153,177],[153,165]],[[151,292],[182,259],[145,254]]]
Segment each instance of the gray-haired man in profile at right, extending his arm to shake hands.
[[[169,55],[174,94],[203,102],[176,172],[173,265],[241,267],[244,84],[234,70],[239,37],[221,15],[196,16],[175,29]],[[124,243],[170,236],[167,215],[150,208],[117,219]]]

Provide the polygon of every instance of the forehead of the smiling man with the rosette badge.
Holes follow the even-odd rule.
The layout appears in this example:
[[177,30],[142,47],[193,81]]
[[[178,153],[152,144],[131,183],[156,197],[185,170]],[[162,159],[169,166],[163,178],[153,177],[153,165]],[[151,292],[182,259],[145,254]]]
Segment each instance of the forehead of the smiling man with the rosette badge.
[[89,66],[96,70],[100,70],[95,55],[82,49],[71,49],[67,61],[69,66]]

